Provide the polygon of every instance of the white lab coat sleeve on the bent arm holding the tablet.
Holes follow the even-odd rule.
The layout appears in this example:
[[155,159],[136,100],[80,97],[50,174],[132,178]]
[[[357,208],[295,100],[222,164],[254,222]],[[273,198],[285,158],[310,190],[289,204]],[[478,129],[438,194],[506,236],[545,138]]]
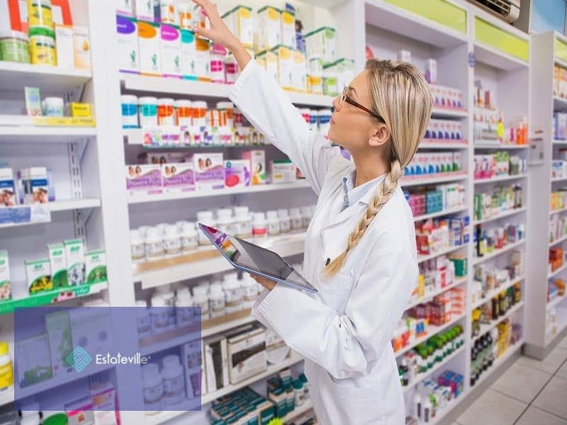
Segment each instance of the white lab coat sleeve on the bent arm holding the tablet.
[[416,281],[417,263],[407,249],[381,249],[366,260],[345,314],[278,283],[252,315],[334,378],[359,378],[391,344]]

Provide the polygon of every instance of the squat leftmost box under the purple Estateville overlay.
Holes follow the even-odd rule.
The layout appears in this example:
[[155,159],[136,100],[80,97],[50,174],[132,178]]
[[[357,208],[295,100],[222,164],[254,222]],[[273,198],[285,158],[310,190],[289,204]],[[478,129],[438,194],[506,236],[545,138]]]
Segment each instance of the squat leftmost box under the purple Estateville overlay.
[[21,388],[49,380],[53,376],[47,334],[16,341],[17,382]]

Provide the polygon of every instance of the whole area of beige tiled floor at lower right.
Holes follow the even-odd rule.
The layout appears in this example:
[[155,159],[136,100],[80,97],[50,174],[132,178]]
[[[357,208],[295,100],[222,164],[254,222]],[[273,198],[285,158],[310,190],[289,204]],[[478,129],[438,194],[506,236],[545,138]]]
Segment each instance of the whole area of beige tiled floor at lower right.
[[567,425],[567,337],[544,361],[519,358],[457,424]]

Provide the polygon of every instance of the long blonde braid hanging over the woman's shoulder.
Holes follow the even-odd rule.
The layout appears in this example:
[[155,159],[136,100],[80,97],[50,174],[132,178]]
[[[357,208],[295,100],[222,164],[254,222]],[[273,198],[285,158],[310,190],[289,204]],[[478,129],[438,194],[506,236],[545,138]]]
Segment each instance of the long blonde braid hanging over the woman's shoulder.
[[364,236],[366,229],[371,225],[372,220],[374,217],[380,212],[383,205],[385,205],[390,198],[392,198],[395,189],[398,188],[398,181],[403,176],[403,169],[398,159],[393,159],[391,162],[391,169],[384,177],[384,180],[378,186],[378,191],[376,192],[376,196],[372,198],[371,203],[369,204],[368,208],[366,208],[366,212],[364,213],[364,217],[361,218],[359,224],[357,225],[356,229],[354,229],[351,234],[349,234],[349,240],[347,243],[347,249],[342,251],[342,254],[337,256],[333,261],[331,261],[327,266],[325,266],[325,274],[327,276],[332,276],[337,271],[339,271],[342,266],[344,266],[344,262],[347,261],[347,256],[349,252],[354,249],[360,242],[360,239]]

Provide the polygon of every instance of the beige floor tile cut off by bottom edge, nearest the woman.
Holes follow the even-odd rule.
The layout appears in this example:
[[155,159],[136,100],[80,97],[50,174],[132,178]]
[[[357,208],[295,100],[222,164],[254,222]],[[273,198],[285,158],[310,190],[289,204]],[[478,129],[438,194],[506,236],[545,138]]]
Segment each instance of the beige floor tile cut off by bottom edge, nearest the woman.
[[486,390],[459,416],[462,425],[512,425],[527,404],[494,390]]

